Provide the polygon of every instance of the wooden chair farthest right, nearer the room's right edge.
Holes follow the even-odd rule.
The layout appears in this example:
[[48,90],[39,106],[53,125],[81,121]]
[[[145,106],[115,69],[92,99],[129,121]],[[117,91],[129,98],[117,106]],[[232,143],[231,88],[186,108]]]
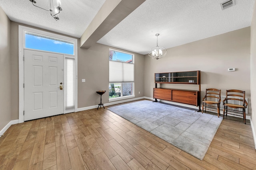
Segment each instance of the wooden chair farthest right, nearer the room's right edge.
[[[225,113],[226,113],[226,116],[227,114],[238,115],[238,116],[243,115],[244,124],[246,124],[245,109],[248,103],[245,100],[245,91],[226,90],[226,98],[223,100],[223,105],[224,105],[223,119],[224,119]],[[230,112],[228,113],[228,111]],[[237,113],[242,113],[242,115]]]

